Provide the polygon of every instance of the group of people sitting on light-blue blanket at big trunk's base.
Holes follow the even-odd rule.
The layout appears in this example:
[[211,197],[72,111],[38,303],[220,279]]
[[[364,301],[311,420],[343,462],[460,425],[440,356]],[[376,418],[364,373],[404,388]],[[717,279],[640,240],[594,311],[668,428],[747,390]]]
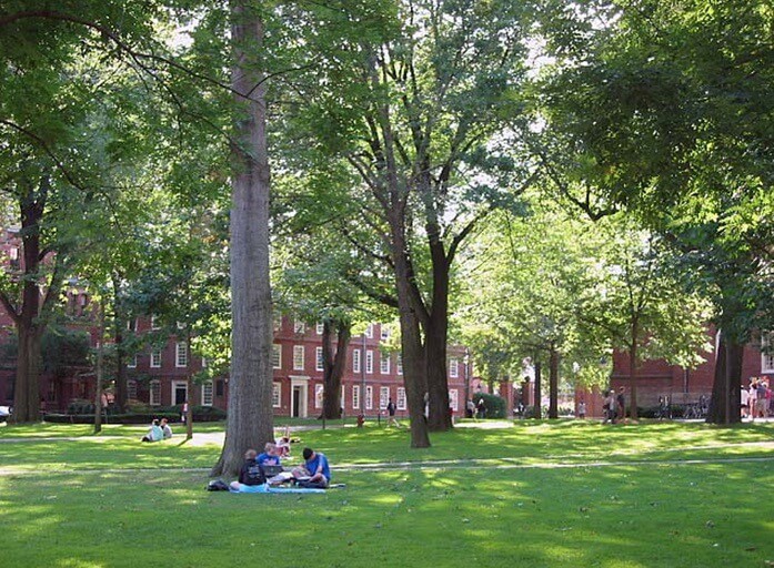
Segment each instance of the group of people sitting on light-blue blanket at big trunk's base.
[[267,485],[278,487],[283,484],[308,489],[325,489],[330,486],[331,467],[322,452],[304,448],[303,464],[290,471],[282,468],[280,452],[273,442],[267,443],[260,455],[254,449],[248,449],[239,479],[231,481],[231,490],[254,493]]

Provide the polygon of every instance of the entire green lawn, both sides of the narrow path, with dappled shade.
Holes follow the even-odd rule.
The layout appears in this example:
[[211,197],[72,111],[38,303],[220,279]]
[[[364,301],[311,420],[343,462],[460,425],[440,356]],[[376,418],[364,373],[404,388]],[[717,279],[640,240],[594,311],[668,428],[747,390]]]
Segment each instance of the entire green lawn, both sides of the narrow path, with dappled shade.
[[346,484],[325,495],[205,491],[217,428],[140,444],[142,427],[0,426],[2,564],[774,565],[774,424],[524,420],[423,450],[372,424],[299,433]]

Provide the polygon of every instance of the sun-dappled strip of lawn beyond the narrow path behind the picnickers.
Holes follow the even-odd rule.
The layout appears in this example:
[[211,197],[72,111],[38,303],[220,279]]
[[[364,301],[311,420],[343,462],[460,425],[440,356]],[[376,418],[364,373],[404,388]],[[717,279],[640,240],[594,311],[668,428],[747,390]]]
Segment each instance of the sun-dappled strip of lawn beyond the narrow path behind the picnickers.
[[[50,433],[50,426],[40,429]],[[69,436],[82,428],[58,426]],[[0,469],[34,470],[43,465],[54,469],[209,468],[220,455],[217,442],[191,444],[182,435],[162,443],[142,444],[139,436],[144,428],[132,426],[115,426],[109,435],[89,434],[76,440],[37,439],[41,436],[34,426],[19,428],[17,438],[28,442],[0,440]],[[205,430],[212,433],[218,428],[209,425]],[[525,420],[503,429],[456,428],[433,434],[433,446],[424,449],[408,447],[406,429],[373,425],[363,429],[315,429],[294,436],[301,438],[301,444],[293,445],[291,463],[300,459],[300,447],[306,445],[324,452],[334,465],[450,459],[463,465],[473,459],[492,465],[640,463],[771,456],[772,447],[766,443],[774,442],[774,424],[743,424],[733,428],[676,423],[610,427],[593,422]]]

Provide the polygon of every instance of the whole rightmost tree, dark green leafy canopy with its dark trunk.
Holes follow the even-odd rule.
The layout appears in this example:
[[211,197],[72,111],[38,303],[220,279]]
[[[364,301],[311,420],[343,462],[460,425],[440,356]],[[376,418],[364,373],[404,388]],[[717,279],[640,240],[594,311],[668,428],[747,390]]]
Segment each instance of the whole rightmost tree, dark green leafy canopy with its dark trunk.
[[[714,298],[727,351],[710,420],[737,422],[742,346],[770,325],[761,316],[771,287],[757,283],[771,244],[752,213],[772,199],[770,8],[755,0],[591,7],[553,22],[561,72],[544,91],[549,128],[582,158],[582,179],[603,204],[629,209],[702,261],[696,283]],[[740,222],[748,227],[742,234],[732,230]]]

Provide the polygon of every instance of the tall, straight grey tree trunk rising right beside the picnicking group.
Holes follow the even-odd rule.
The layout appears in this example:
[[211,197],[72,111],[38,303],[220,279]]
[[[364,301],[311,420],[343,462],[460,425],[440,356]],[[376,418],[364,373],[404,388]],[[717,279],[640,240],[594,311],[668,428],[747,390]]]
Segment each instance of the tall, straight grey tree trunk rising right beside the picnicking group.
[[248,448],[273,440],[271,290],[269,284],[269,159],[265,82],[258,70],[263,22],[249,2],[233,0],[232,85],[237,102],[232,146],[229,419],[212,475],[237,475]]

